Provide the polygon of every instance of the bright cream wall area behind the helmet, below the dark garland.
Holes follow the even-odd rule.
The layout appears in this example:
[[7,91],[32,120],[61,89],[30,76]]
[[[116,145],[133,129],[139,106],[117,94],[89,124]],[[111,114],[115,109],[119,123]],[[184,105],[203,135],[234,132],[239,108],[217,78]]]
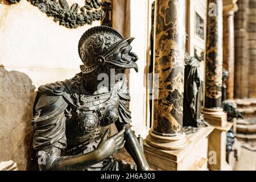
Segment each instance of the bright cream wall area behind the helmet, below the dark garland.
[[[76,2],[84,5],[82,0]],[[74,1],[68,3],[71,6]],[[82,64],[77,52],[79,39],[92,26],[60,26],[26,0],[10,6],[0,4],[0,64],[8,71],[26,73],[36,88],[71,78]]]

